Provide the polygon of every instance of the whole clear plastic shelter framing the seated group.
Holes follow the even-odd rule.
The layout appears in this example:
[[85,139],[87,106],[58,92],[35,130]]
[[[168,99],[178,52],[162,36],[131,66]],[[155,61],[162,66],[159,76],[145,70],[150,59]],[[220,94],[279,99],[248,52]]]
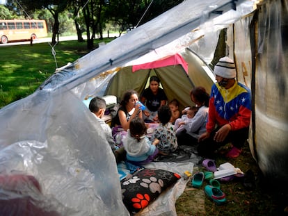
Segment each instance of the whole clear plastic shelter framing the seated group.
[[[102,73],[115,67],[184,56],[187,47],[210,64],[225,28],[224,55],[234,58],[238,80],[253,93],[251,152],[265,176],[287,187],[287,1],[265,1],[257,10],[253,4],[184,1],[59,69],[29,97],[0,110],[1,174],[35,176],[42,193],[28,193],[33,204],[60,215],[128,215],[113,153],[81,101],[101,94],[115,76]],[[0,198],[13,201],[15,194]],[[173,208],[163,211],[175,215]]]

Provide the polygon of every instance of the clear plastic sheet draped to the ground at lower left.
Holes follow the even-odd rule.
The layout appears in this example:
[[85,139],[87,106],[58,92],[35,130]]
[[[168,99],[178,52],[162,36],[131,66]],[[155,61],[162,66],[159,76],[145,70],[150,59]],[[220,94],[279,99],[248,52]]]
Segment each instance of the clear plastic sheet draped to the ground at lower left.
[[[27,195],[40,209],[50,206],[60,215],[128,215],[102,127],[74,94],[46,93],[49,97],[38,92],[1,110],[6,128],[1,142],[7,143],[1,145],[1,174],[33,176],[42,188],[37,194],[41,203],[33,192]],[[0,193],[0,203],[6,199]]]

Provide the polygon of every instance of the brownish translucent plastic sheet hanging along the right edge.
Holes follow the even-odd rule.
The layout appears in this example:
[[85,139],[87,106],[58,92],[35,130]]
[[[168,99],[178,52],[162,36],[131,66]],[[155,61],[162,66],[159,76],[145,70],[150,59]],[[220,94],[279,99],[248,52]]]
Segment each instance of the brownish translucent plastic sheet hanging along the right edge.
[[255,147],[260,169],[288,180],[288,4],[265,1],[257,24]]

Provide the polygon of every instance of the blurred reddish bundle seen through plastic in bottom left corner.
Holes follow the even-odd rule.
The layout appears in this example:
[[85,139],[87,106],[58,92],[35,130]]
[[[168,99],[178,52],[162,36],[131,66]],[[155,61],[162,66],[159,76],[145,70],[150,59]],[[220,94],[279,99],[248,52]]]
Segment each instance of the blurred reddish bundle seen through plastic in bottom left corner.
[[42,215],[60,216],[54,209],[58,203],[54,199],[44,197],[38,181],[25,174],[10,174],[0,176],[1,215]]

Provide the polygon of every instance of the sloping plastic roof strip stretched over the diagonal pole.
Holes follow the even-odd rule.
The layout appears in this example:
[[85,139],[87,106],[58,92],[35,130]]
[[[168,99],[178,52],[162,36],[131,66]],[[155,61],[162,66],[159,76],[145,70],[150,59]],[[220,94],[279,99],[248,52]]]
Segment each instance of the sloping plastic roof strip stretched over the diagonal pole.
[[[234,3],[237,12],[233,10]],[[243,10],[243,8],[248,8],[247,5],[250,5],[250,10]],[[205,13],[203,13],[204,11]],[[222,19],[214,24],[213,19],[219,16],[219,11],[223,13],[221,15]],[[51,76],[49,82],[45,83],[42,88],[60,88],[65,85],[68,89],[72,89],[97,76],[99,73],[106,72],[115,67],[122,67],[147,53],[157,53],[157,56],[154,56],[153,59],[150,58],[147,62],[179,53],[184,51],[186,47],[189,47],[189,44],[198,40],[198,33],[191,33],[191,31],[199,28],[201,25],[205,26],[205,28],[201,29],[201,35],[205,35],[207,32],[207,39],[201,42],[202,44],[206,44],[205,49],[201,49],[201,53],[203,53],[202,58],[206,58],[205,56],[208,55],[209,58],[207,57],[207,60],[209,60],[213,55],[211,49],[217,43],[217,34],[214,35],[214,32],[218,31],[217,26],[221,26],[219,22],[229,19],[229,22],[225,22],[225,24],[232,23],[241,16],[246,15],[248,11],[253,11],[251,1],[184,1],[156,19],[152,19],[150,22],[109,42],[109,44],[99,47],[86,56],[79,58],[79,60],[65,69],[66,72],[70,71],[73,76],[70,74],[70,76],[67,76],[67,80],[61,80],[58,83],[58,78]],[[226,16],[227,12],[230,12],[228,13],[229,16]],[[209,28],[207,28],[206,24],[209,25]],[[213,28],[210,28],[211,26]],[[214,42],[213,46],[208,45],[211,38]],[[160,47],[170,42],[172,43],[169,47],[160,51]],[[205,55],[205,53],[207,54]],[[137,64],[142,63],[145,62],[138,62]]]

